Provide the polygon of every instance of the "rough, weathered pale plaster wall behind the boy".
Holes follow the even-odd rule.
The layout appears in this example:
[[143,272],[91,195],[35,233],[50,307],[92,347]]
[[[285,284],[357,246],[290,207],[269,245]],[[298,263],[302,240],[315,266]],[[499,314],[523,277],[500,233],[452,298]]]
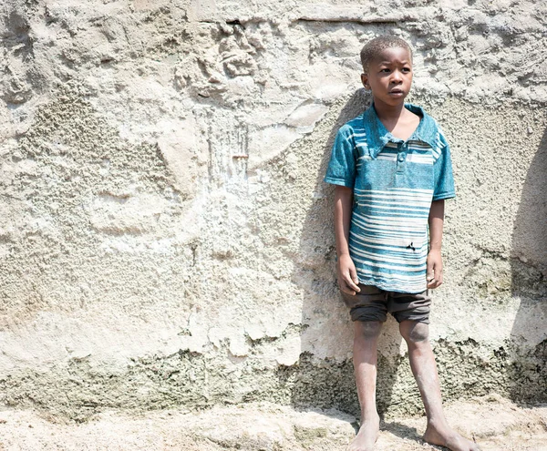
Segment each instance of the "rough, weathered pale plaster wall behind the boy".
[[[335,289],[335,130],[358,51],[416,49],[449,137],[447,399],[547,384],[547,5],[7,0],[0,6],[2,402],[83,419],[267,399],[356,412]],[[397,325],[384,411],[419,406]]]

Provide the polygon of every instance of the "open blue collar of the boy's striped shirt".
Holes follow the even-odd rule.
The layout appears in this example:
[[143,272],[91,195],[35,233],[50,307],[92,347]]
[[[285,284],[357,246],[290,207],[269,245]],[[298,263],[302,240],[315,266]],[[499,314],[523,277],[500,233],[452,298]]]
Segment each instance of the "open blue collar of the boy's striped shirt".
[[[437,122],[435,122],[435,119],[431,118],[428,113],[416,105],[407,103],[405,104],[405,108],[421,118],[418,128],[416,128],[410,138],[423,141],[431,148],[434,148],[438,131]],[[370,156],[373,159],[377,158],[378,153],[384,149],[388,142],[403,142],[402,139],[395,138],[384,127],[384,124],[382,124],[380,119],[377,117],[374,103],[366,109],[363,114],[363,119],[365,122],[366,146],[368,147]]]

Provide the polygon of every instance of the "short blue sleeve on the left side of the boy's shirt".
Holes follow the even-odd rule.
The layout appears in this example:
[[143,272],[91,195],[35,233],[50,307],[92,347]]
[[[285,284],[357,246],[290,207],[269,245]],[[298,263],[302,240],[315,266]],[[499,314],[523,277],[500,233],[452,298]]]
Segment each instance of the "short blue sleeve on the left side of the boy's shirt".
[[356,179],[356,147],[353,130],[343,126],[338,130],[331,158],[326,168],[325,182],[354,188]]

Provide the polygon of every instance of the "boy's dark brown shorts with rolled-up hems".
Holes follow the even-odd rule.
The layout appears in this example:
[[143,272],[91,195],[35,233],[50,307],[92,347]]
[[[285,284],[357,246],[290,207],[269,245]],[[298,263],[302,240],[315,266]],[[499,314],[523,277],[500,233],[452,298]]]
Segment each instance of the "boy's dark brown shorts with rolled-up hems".
[[387,312],[397,320],[410,320],[429,323],[429,306],[431,298],[428,291],[417,293],[386,292],[373,285],[359,283],[360,292],[355,296],[342,292],[346,306],[350,309],[352,321],[387,320]]

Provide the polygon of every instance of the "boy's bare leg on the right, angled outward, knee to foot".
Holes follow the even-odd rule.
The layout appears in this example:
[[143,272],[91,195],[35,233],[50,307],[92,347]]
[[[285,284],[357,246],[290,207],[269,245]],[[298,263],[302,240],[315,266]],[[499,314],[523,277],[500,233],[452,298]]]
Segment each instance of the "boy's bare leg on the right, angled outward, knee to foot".
[[428,428],[424,440],[432,445],[446,446],[452,451],[479,451],[477,444],[449,427],[442,411],[439,375],[428,340],[428,324],[402,321],[399,330],[408,344],[410,367],[428,415]]

